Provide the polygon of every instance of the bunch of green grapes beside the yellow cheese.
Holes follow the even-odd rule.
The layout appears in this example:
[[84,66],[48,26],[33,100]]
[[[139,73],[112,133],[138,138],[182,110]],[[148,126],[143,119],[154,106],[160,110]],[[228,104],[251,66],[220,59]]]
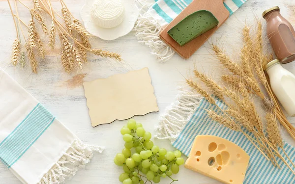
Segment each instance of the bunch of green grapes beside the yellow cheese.
[[[176,150],[167,152],[164,148],[155,146],[150,140],[151,133],[145,131],[142,124],[130,119],[127,126],[121,129],[125,148],[114,159],[115,164],[123,166],[124,173],[120,174],[119,181],[123,184],[146,184],[153,181],[159,183],[161,177],[177,174],[179,165],[184,163],[181,153]],[[131,149],[135,150],[132,154]]]

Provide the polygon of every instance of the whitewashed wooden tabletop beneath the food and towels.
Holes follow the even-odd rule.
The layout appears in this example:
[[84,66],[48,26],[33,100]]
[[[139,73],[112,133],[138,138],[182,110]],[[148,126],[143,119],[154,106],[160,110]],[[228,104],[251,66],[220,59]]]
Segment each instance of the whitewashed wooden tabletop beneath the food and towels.
[[[30,3],[30,0],[24,1]],[[59,11],[59,1],[52,1]],[[65,1],[75,17],[81,20],[79,12],[84,0]],[[248,0],[217,30],[210,42],[222,44],[228,53],[238,52],[241,46],[240,32],[245,20],[248,23],[254,23],[255,14],[260,18],[265,9],[274,5],[280,6],[281,14],[295,24],[295,13],[290,6],[285,4],[286,1]],[[289,4],[292,2],[292,0],[288,1]],[[295,4],[295,2],[293,3]],[[28,22],[29,13],[27,9],[20,5],[19,13],[22,19]],[[87,167],[79,171],[68,184],[119,184],[118,176],[123,171],[113,163],[113,159],[124,147],[119,131],[126,121],[115,121],[108,125],[91,127],[84,89],[82,86],[70,89],[64,83],[72,76],[65,74],[61,68],[59,57],[56,54],[59,51],[49,53],[45,60],[41,61],[38,75],[32,74],[30,69],[21,70],[12,67],[9,62],[11,46],[16,34],[6,0],[0,0],[0,23],[0,67],[47,107],[66,127],[76,133],[82,141],[87,144],[106,146],[106,150],[102,154],[96,154]],[[264,20],[263,23],[265,24]],[[93,56],[89,65],[83,71],[88,74],[85,78],[87,81],[107,78],[114,74],[125,73],[128,70],[149,68],[160,111],[145,116],[136,116],[135,119],[153,134],[160,115],[164,113],[168,105],[174,102],[177,95],[177,86],[184,84],[182,75],[187,75],[188,69],[193,68],[193,63],[196,63],[200,71],[206,71],[213,76],[217,75],[216,69],[220,68],[216,65],[216,60],[212,59],[213,56],[209,54],[208,42],[190,59],[183,60],[175,54],[166,63],[158,63],[155,57],[150,54],[150,50],[137,42],[134,32],[109,42],[94,38],[92,43],[93,46],[98,48],[121,53],[126,64],[118,65],[112,60],[107,61]],[[295,63],[290,63],[285,66],[295,74],[294,65]],[[285,132],[283,134],[285,140],[295,145],[295,142]],[[154,140],[154,142],[160,147],[174,150],[169,141]],[[185,169],[183,166],[174,177],[179,180],[178,184],[219,184],[217,181]],[[169,184],[170,182],[169,179],[165,179],[161,183]],[[0,164],[0,184],[21,183],[3,164]]]

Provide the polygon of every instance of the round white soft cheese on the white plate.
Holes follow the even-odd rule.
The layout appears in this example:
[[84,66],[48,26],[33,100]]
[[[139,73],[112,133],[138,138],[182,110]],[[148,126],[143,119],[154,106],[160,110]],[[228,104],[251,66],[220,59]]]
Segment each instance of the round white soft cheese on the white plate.
[[91,18],[97,26],[116,27],[124,19],[124,5],[120,0],[96,0],[91,6]]

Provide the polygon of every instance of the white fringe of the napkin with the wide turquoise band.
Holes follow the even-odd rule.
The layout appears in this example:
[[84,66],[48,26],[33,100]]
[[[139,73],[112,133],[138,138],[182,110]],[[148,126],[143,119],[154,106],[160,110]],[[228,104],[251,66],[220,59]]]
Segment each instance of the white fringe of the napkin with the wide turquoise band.
[[79,169],[89,163],[93,151],[102,153],[103,150],[104,147],[90,146],[75,140],[68,152],[63,154],[48,173],[44,174],[38,184],[63,184],[66,179],[71,179]]

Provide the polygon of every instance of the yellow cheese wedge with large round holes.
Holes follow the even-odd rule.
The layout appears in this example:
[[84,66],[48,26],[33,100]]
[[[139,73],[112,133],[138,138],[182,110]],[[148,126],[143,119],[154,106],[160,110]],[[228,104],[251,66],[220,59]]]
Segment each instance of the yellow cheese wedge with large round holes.
[[231,141],[198,135],[185,167],[225,184],[242,184],[249,159],[248,154]]

